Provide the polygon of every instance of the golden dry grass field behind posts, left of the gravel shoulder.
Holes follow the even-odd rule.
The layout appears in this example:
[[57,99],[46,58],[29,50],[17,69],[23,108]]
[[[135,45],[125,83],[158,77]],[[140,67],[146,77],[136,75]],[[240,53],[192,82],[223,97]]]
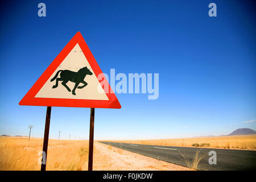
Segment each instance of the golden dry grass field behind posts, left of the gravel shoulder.
[[[0,137],[0,171],[40,170],[42,146],[43,139]],[[86,170],[87,165],[88,141],[49,139],[47,170]]]

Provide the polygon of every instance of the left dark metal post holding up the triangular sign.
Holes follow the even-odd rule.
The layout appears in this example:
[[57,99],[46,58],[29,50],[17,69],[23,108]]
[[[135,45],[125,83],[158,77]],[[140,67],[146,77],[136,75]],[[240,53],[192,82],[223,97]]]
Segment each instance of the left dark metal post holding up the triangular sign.
[[50,123],[50,119],[51,119],[51,110],[52,110],[52,107],[47,106],[46,126],[44,127],[44,143],[43,143],[41,171],[46,171],[46,159],[47,159],[47,149],[48,149],[48,139],[49,139],[49,123]]

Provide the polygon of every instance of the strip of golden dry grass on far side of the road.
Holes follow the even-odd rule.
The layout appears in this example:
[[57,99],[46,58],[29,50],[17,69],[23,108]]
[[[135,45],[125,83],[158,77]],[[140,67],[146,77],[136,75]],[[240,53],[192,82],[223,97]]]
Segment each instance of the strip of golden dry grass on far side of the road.
[[256,135],[155,139],[155,140],[112,140],[112,141],[123,142],[123,143],[134,143],[134,144],[155,144],[160,146],[182,146],[182,147],[192,147],[192,145],[195,143],[198,143],[199,145],[203,143],[207,143],[209,144],[210,148],[256,150]]

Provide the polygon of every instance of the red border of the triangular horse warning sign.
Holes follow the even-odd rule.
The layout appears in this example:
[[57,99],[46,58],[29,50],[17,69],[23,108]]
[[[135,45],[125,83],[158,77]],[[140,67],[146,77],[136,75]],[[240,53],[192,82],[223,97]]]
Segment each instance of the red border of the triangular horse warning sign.
[[[70,99],[70,98],[38,98],[35,97],[39,90],[43,87],[52,73],[59,67],[62,61],[67,57],[69,52],[72,51],[76,44],[79,44],[82,52],[84,53],[90,67],[93,69],[94,74],[98,78],[98,75],[102,73],[97,61],[94,59],[92,52],[90,52],[84,38],[80,32],[77,32],[75,36],[69,41],[69,43],[63,48],[63,50],[52,61],[49,67],[44,71],[42,76],[38,78],[35,84],[27,92],[27,94],[19,102],[19,105],[32,105],[32,106],[57,106],[57,107],[94,107],[94,108],[113,108],[120,109],[121,105],[113,93],[112,88],[109,85],[110,92],[106,93],[109,100],[82,100],[82,99]],[[104,77],[104,80],[106,78]],[[100,81],[99,81],[100,82]],[[109,83],[108,83],[109,84]]]

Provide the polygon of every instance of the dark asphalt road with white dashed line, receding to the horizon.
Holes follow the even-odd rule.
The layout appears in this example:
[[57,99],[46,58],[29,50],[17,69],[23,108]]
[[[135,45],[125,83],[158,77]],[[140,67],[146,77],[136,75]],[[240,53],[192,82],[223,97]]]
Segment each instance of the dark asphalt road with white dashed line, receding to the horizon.
[[[147,144],[130,144],[130,143],[115,143],[115,142],[101,142],[113,147],[122,148],[123,150],[135,152],[137,154],[149,156],[151,158],[164,160],[166,162],[186,166],[182,160],[183,155],[192,159],[196,151],[201,148],[197,147],[172,147],[172,146],[154,146]],[[208,160],[211,157],[209,151],[215,151],[217,155],[217,164],[210,165]],[[217,148],[202,148],[200,155],[207,154],[199,163],[199,170],[255,170],[256,169],[256,151],[246,150],[226,150]]]

